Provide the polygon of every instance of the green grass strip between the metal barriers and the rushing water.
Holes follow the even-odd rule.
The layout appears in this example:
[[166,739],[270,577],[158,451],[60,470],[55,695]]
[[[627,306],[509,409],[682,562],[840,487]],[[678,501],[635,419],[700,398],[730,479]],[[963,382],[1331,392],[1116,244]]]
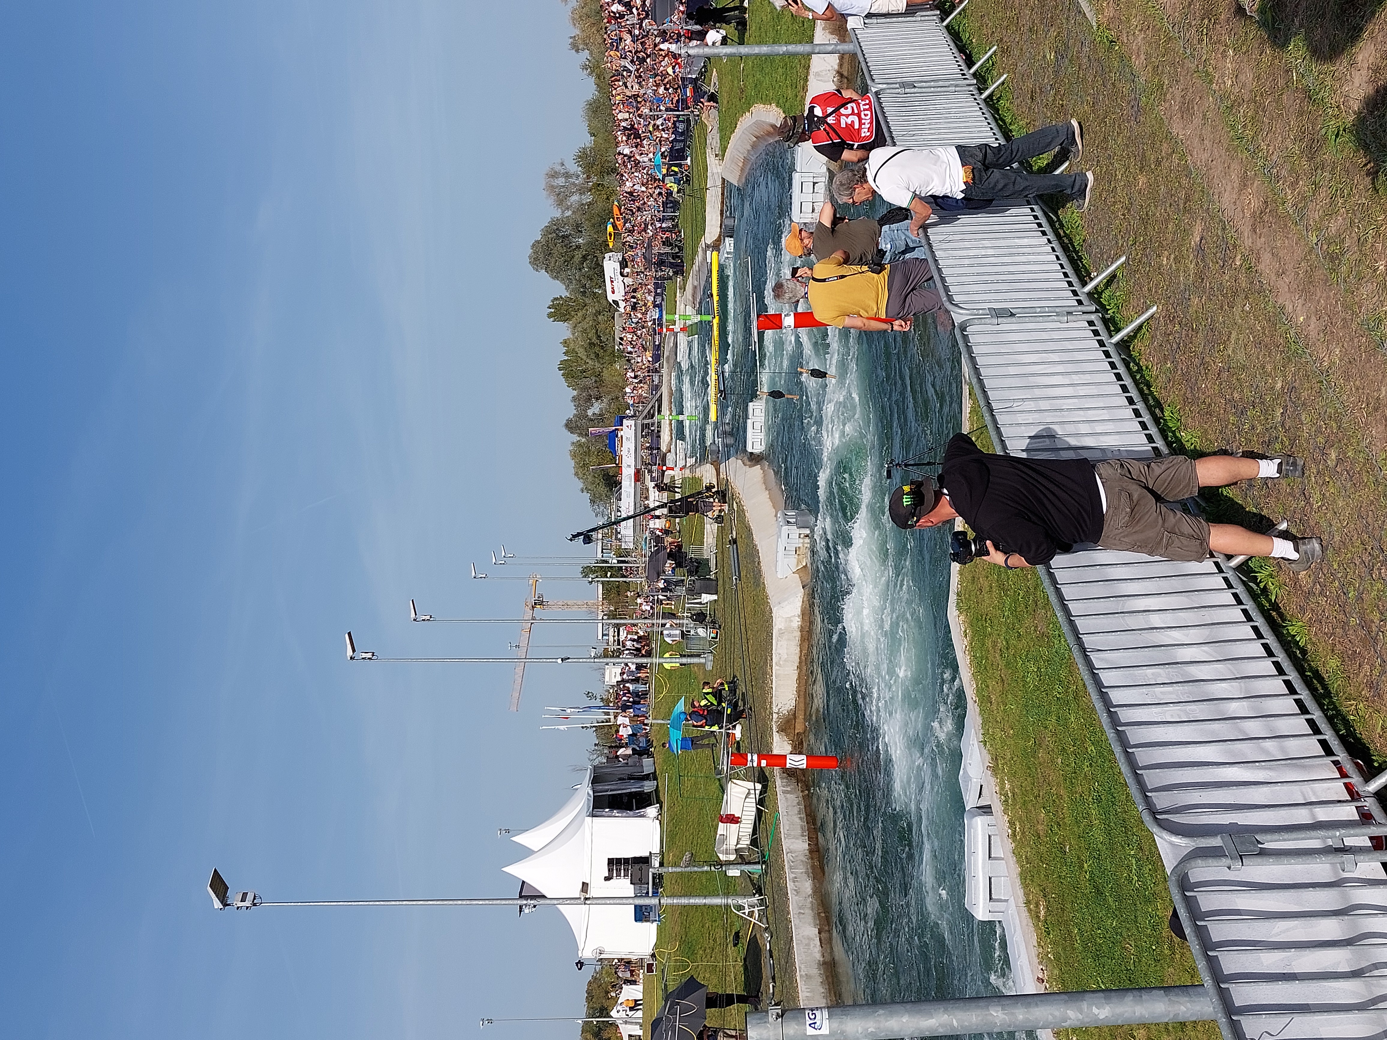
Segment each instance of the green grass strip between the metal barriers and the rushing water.
[[[982,422],[976,402],[972,415],[970,427]],[[986,434],[978,444],[992,449]],[[964,567],[958,613],[1046,985],[1197,985],[1189,947],[1166,928],[1171,897],[1155,842],[1036,573]],[[1211,1022],[1104,1032],[1218,1036]]]

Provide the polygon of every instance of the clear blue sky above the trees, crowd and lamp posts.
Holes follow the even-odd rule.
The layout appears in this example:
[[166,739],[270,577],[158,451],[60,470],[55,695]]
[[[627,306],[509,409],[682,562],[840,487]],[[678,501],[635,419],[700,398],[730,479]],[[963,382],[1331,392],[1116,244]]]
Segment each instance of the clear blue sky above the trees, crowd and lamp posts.
[[408,599],[513,616],[524,587],[469,563],[591,523],[558,287],[526,262],[544,168],[583,143],[566,15],[0,11],[7,1033],[581,1014],[553,911],[218,914],[203,887],[218,865],[266,899],[513,894],[524,850],[495,829],[549,815],[585,759],[537,727],[592,670],[533,667],[512,716],[505,666],[341,645],[506,653]]

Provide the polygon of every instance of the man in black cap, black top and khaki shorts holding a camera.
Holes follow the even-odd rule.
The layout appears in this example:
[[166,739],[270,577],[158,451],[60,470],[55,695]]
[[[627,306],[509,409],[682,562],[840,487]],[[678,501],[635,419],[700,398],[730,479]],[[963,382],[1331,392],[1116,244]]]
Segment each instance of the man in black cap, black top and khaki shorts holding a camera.
[[1293,571],[1305,571],[1325,556],[1319,538],[1273,538],[1234,524],[1209,524],[1169,505],[1197,495],[1201,487],[1304,471],[1304,462],[1290,455],[1209,455],[1197,462],[1183,455],[1097,463],[1018,459],[988,455],[965,434],[956,434],[938,483],[925,478],[896,488],[889,512],[904,530],[963,517],[982,542],[976,557],[1008,570],[1049,563],[1057,552],[1092,542],[1168,560],[1203,560],[1209,551],[1272,556]]

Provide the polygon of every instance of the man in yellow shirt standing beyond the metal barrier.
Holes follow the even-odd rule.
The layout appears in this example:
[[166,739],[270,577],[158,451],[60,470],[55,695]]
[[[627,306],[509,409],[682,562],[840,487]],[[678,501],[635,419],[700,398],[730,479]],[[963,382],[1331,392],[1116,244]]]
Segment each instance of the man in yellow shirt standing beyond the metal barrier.
[[910,257],[886,265],[847,262],[846,250],[825,257],[813,269],[771,287],[771,297],[793,304],[809,295],[814,318],[839,329],[868,333],[908,331],[911,315],[940,311],[929,261]]

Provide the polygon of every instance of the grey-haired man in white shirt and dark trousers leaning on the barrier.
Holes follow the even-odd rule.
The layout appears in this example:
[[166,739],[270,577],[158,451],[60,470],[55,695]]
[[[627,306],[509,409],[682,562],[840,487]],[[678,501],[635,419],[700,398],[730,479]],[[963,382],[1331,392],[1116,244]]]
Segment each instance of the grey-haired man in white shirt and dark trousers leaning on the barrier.
[[874,148],[865,165],[847,166],[834,177],[839,202],[861,204],[879,194],[910,209],[910,233],[932,212],[929,198],[1032,198],[1060,194],[1089,208],[1093,173],[1031,173],[1007,169],[1015,162],[1067,148],[1071,162],[1083,151],[1078,119],[1017,137],[1007,144],[958,144],[942,148]]

